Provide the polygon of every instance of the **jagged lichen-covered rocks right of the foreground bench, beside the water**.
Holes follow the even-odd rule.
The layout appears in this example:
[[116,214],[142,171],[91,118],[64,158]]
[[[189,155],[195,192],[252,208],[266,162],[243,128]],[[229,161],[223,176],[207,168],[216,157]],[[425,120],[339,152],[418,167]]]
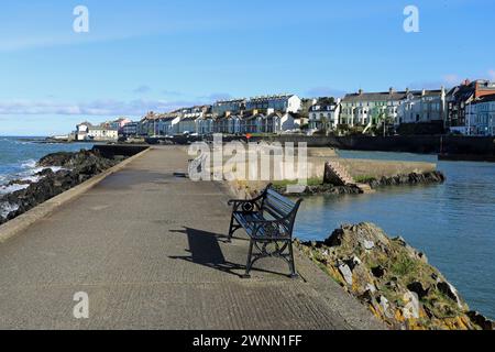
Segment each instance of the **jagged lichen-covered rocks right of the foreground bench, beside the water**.
[[324,242],[298,248],[392,329],[493,330],[455,287],[402,238],[372,223],[343,226]]

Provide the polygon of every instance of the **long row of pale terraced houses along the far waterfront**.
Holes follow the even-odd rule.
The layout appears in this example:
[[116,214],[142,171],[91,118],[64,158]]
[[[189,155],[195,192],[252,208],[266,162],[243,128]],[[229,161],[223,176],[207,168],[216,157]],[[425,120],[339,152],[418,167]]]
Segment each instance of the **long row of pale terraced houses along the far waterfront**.
[[495,135],[495,82],[465,80],[451,89],[382,92],[359,90],[343,98],[275,95],[219,100],[140,121],[119,118],[82,122],[70,139],[113,141],[177,134],[441,134]]

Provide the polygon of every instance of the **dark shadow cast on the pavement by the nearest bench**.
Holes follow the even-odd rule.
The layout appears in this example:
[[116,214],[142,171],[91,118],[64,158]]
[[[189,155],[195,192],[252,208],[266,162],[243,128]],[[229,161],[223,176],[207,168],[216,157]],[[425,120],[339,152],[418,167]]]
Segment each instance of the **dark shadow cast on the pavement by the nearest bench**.
[[[190,228],[184,228],[184,230],[172,230],[170,232],[183,233],[187,235],[189,249],[186,251],[189,252],[190,255],[169,256],[169,258],[207,266],[209,268],[215,268],[223,273],[235,275],[238,277],[242,277],[242,274],[244,274],[245,265],[231,263],[226,260],[219,244],[219,242],[227,241],[227,238],[224,235]],[[245,250],[248,256],[248,246]],[[238,271],[238,273],[235,271]],[[280,273],[261,268],[253,268],[253,271],[280,275]]]

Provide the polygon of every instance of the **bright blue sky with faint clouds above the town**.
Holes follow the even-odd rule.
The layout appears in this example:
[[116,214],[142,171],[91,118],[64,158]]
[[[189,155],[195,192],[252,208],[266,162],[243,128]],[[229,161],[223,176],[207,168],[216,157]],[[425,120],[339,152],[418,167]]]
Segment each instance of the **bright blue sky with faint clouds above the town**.
[[[89,10],[75,33],[73,10]],[[419,33],[403,30],[406,6]],[[224,97],[495,79],[492,0],[2,0],[0,134]]]

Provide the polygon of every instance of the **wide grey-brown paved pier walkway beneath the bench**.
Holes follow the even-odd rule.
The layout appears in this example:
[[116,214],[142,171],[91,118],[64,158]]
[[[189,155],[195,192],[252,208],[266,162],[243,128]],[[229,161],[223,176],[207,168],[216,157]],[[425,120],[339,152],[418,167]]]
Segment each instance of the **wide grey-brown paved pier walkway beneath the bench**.
[[[228,196],[191,183],[178,147],[155,147],[0,244],[0,329],[370,329],[353,298],[297,257],[241,279],[248,243],[222,242]],[[74,294],[89,319],[74,318]]]

